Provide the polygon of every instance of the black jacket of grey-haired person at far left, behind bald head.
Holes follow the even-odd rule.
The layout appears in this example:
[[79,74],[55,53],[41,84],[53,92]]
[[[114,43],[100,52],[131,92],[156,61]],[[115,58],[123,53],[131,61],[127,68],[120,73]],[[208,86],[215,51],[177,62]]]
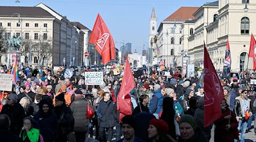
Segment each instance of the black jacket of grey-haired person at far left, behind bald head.
[[1,114],[9,116],[11,121],[10,131],[16,135],[19,135],[20,130],[23,127],[23,119],[25,118],[25,111],[19,103],[15,103],[14,106],[4,105]]

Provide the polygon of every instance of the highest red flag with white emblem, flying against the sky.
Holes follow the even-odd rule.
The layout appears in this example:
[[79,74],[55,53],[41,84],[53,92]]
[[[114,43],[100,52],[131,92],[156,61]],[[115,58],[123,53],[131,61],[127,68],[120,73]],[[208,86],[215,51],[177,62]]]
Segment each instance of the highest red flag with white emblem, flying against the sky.
[[104,65],[110,62],[110,60],[115,59],[114,40],[100,14],[98,14],[94,23],[89,43],[96,45],[96,50],[100,53]]

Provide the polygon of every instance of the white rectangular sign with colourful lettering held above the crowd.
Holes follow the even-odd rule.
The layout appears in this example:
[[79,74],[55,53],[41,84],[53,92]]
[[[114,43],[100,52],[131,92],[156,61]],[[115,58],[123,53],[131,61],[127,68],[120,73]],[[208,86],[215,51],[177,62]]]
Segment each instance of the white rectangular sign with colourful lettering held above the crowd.
[[85,72],[85,85],[103,85],[103,72]]

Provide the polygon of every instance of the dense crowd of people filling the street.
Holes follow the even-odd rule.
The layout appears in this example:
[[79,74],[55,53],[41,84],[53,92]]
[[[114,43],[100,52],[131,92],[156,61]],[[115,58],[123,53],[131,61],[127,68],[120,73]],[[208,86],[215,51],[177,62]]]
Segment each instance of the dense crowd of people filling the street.
[[[102,85],[90,86],[82,75],[65,76],[65,70],[20,70],[13,91],[0,94],[1,141],[245,141],[246,131],[256,134],[254,74],[220,78],[222,115],[207,127],[199,78],[184,78],[179,69],[168,77],[154,68],[133,75],[132,114],[119,122],[123,73],[110,70]],[[236,101],[230,110],[232,94]],[[95,111],[92,117],[88,107]]]

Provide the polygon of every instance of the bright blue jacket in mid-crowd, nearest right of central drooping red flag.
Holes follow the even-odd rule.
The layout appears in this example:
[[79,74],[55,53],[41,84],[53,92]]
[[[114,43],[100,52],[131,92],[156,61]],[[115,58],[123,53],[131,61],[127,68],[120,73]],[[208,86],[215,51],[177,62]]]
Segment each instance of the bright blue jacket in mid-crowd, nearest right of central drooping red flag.
[[161,89],[153,91],[153,93],[154,95],[152,95],[148,109],[151,114],[159,114],[163,106],[163,95],[161,93]]

